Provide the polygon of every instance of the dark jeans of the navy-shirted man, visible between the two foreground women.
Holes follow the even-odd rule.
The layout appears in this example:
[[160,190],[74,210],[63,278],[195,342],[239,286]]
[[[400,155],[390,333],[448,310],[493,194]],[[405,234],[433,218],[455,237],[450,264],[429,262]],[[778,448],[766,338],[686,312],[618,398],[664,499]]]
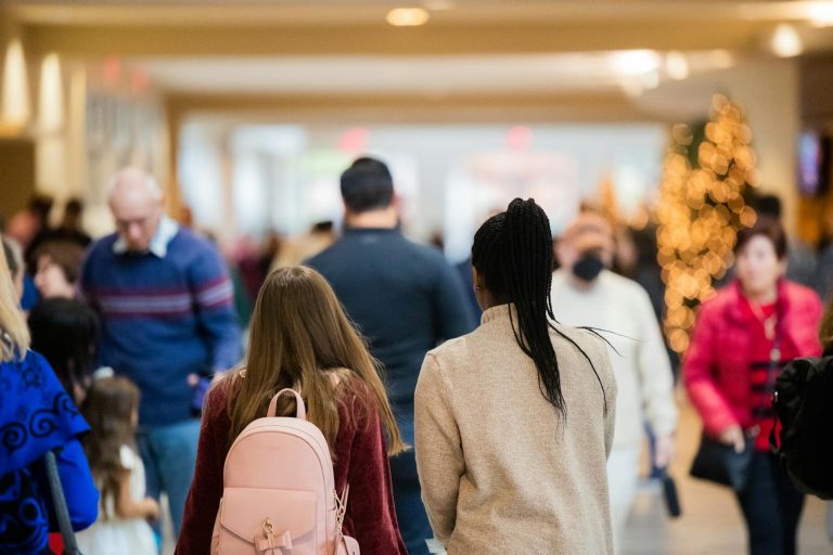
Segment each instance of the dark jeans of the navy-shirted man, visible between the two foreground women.
[[428,555],[425,540],[434,538],[428,516],[420,495],[416,456],[413,450],[390,459],[390,479],[394,482],[394,503],[399,531],[409,555]]

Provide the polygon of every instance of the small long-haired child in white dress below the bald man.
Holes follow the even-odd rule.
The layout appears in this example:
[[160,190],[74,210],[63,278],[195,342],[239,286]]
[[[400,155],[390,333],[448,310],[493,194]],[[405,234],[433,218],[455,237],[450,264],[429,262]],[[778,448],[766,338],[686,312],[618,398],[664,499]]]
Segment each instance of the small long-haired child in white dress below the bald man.
[[124,377],[97,379],[81,408],[92,430],[85,451],[101,492],[99,519],[79,532],[85,555],[156,555],[149,520],[159,506],[145,498],[144,466],[136,452],[139,389]]

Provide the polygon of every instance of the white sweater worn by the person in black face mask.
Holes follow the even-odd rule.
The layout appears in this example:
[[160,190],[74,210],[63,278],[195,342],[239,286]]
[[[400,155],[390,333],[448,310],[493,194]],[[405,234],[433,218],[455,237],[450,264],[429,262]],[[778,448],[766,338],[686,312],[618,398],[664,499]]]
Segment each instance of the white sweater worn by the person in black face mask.
[[674,377],[642,286],[604,270],[589,289],[580,289],[565,270],[558,270],[552,276],[552,308],[563,324],[613,332],[602,333],[615,347],[607,348],[618,386],[613,448],[638,447],[645,420],[655,434],[671,434],[678,415]]

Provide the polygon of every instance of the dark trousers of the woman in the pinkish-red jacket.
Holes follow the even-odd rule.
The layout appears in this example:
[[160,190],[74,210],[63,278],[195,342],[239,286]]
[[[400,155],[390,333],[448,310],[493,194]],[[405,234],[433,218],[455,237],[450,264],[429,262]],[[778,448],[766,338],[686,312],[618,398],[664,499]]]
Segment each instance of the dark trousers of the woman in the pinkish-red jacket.
[[738,501],[746,519],[749,554],[795,555],[804,494],[770,453],[755,453],[748,483]]

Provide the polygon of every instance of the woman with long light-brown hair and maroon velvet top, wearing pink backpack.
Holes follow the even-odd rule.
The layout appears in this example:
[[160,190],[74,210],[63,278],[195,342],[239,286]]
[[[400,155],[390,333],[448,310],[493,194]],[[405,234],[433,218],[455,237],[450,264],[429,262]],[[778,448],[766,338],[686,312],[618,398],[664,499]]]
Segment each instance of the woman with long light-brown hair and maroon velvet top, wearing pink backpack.
[[[229,448],[286,387],[302,392],[308,420],[326,438],[336,490],[350,487],[344,532],[362,553],[406,554],[387,461],[403,444],[385,388],[330,284],[304,267],[267,278],[252,317],[245,367],[208,393],[177,553],[208,553]],[[294,401],[282,400],[278,414],[294,414]]]

